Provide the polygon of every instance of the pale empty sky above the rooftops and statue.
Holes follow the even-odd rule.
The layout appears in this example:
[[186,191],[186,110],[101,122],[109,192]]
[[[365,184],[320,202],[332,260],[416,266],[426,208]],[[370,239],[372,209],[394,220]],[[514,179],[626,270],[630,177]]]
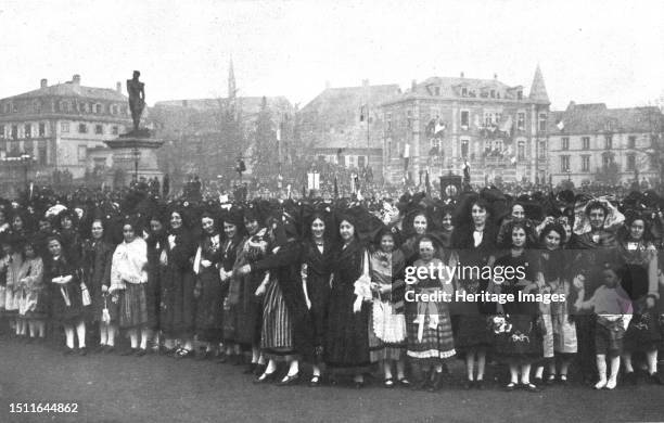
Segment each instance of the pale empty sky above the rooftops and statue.
[[[2,0],[0,98],[65,82],[114,88],[141,72],[146,101],[284,95],[431,76],[531,88],[554,110],[664,98],[662,0]],[[124,84],[123,84],[124,86]]]

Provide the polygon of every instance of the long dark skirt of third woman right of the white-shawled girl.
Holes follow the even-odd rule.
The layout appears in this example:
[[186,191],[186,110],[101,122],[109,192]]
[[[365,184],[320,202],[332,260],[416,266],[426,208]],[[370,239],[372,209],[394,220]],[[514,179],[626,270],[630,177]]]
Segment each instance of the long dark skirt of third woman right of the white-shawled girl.
[[218,343],[222,337],[224,297],[216,268],[205,269],[199,275],[201,286],[196,299],[196,335],[199,341]]

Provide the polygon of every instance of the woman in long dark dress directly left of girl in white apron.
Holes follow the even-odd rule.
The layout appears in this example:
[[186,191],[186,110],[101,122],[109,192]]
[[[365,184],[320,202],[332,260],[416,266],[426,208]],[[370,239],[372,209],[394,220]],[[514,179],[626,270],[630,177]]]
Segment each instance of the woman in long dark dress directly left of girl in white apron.
[[[366,248],[356,236],[350,217],[340,219],[342,245],[333,261],[332,290],[328,307],[328,328],[323,357],[333,373],[350,373],[356,387],[365,385],[363,372],[369,360],[369,306],[355,294],[355,282],[365,277],[369,282]],[[369,286],[369,283],[367,283]],[[369,293],[369,298],[371,294]]]

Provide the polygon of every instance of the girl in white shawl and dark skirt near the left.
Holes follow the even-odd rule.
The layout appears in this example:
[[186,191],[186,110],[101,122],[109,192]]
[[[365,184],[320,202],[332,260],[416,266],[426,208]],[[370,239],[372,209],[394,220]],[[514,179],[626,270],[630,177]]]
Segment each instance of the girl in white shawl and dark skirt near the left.
[[[108,293],[119,305],[119,328],[127,331],[131,349],[123,355],[144,356],[150,331],[148,323],[148,245],[137,235],[138,223],[127,219],[123,225],[124,241],[113,253]],[[139,345],[140,332],[140,345]]]

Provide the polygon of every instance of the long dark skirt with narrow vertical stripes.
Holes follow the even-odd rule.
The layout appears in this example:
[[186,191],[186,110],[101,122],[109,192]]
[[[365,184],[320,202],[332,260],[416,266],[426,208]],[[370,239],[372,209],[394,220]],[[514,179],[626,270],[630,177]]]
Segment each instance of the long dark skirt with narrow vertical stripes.
[[260,349],[266,358],[286,360],[295,354],[293,349],[293,321],[286,307],[279,282],[268,283],[263,303],[263,331]]

